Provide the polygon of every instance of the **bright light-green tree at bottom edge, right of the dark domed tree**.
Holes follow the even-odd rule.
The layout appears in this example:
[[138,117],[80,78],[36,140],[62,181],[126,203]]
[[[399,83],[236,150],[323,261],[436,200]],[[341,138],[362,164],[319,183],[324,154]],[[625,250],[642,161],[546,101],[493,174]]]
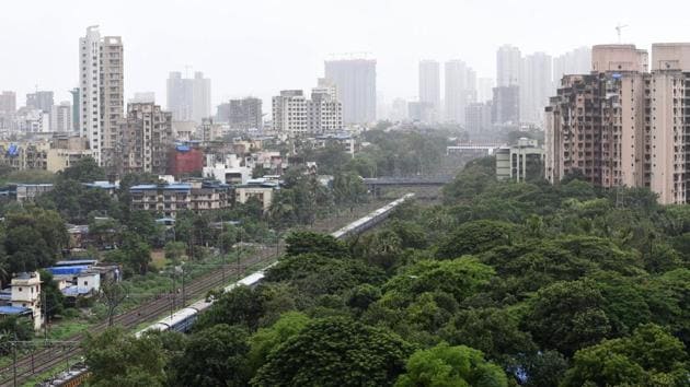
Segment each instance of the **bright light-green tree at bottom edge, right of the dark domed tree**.
[[396,387],[473,386],[507,387],[499,366],[484,360],[481,351],[465,345],[438,344],[412,354]]

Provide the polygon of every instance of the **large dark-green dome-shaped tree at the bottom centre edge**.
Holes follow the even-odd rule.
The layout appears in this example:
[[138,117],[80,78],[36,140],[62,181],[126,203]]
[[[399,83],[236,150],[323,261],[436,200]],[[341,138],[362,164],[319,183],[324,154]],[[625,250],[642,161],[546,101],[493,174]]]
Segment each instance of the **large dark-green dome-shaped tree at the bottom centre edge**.
[[396,335],[341,317],[315,320],[288,339],[253,386],[390,386],[412,348]]

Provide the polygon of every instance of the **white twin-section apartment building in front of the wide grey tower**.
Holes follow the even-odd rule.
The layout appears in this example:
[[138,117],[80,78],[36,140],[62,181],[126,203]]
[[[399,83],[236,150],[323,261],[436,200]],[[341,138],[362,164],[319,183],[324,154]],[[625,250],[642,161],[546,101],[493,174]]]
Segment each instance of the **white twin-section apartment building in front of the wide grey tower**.
[[343,105],[335,87],[314,87],[311,99],[301,90],[284,90],[273,97],[272,108],[273,130],[291,138],[343,129]]

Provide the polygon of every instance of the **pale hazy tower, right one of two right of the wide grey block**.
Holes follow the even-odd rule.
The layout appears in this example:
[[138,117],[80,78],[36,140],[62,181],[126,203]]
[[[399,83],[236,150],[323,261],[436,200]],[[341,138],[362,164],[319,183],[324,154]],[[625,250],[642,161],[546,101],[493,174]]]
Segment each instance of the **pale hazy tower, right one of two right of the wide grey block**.
[[445,75],[446,120],[463,124],[465,107],[476,101],[476,73],[462,60],[450,60]]

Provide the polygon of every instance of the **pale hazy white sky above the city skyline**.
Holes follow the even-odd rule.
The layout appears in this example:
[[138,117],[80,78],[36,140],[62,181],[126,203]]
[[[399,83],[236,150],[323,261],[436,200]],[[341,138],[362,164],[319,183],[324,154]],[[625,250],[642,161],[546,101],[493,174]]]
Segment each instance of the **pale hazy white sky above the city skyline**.
[[463,59],[495,77],[502,44],[559,55],[623,40],[690,40],[690,1],[636,0],[2,0],[0,90],[18,105],[38,85],[68,99],[78,42],[92,24],[125,44],[126,98],[154,91],[165,104],[171,70],[204,71],[212,101],[309,89],[332,54],[370,52],[387,99],[417,94],[419,59]]

